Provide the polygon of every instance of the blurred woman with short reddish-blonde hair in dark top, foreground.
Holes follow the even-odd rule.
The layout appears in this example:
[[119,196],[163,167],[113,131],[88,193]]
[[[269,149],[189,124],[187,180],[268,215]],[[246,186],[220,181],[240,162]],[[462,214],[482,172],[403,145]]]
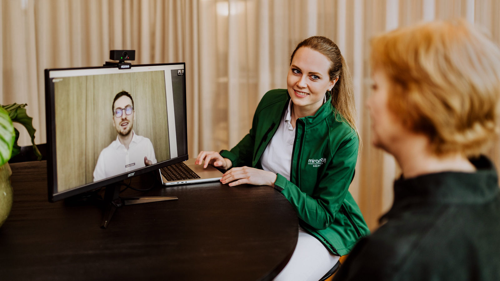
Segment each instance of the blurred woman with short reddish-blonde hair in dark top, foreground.
[[500,50],[463,20],[371,41],[375,146],[402,174],[374,233],[335,280],[500,280],[500,195],[481,155],[496,138]]

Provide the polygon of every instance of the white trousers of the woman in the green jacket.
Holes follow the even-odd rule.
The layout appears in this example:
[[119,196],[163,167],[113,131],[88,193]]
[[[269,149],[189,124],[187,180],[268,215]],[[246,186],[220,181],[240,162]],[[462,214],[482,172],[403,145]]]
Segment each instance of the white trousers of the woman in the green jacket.
[[275,281],[318,281],[335,265],[340,256],[334,255],[316,237],[298,227],[295,250]]

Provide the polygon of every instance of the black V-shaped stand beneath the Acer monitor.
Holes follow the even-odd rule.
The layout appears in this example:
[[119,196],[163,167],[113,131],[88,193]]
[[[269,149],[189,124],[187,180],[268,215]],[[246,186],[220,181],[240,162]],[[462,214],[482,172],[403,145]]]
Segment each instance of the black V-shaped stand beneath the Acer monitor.
[[115,182],[106,186],[104,192],[104,211],[102,214],[102,221],[100,222],[100,228],[107,227],[116,208],[121,207],[122,205],[132,205],[132,204],[178,199],[177,196],[120,197],[119,196],[120,189],[121,189],[121,183],[119,182]]

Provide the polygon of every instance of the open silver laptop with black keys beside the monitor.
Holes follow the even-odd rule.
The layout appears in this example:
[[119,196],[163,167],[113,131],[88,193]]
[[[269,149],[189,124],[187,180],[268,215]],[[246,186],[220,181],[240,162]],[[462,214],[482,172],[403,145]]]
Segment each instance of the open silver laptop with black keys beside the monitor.
[[217,181],[222,177],[222,172],[212,165],[203,168],[203,165],[194,164],[195,159],[171,164],[158,170],[164,185],[177,185]]

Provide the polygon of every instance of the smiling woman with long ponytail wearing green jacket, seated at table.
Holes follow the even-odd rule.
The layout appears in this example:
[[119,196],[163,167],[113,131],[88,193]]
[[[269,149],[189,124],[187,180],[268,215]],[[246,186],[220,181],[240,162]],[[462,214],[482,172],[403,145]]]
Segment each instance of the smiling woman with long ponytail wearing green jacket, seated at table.
[[354,94],[340,50],[322,36],[298,43],[286,84],[265,93],[236,146],[201,151],[196,163],[228,169],[221,182],[229,186],[279,191],[295,209],[299,229],[295,250],[275,280],[317,281],[368,234],[348,191],[359,146]]

